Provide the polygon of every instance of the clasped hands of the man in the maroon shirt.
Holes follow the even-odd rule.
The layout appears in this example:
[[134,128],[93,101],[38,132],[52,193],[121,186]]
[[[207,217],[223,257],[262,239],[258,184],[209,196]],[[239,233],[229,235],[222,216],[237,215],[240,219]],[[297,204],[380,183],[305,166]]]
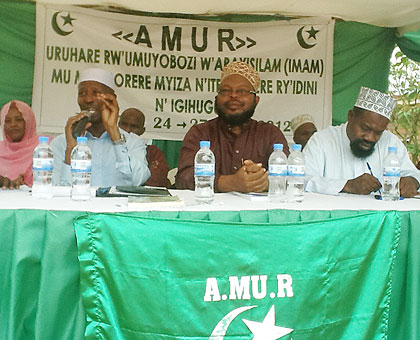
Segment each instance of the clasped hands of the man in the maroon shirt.
[[246,160],[235,174],[220,176],[217,187],[224,192],[263,192],[268,189],[268,171],[260,163]]

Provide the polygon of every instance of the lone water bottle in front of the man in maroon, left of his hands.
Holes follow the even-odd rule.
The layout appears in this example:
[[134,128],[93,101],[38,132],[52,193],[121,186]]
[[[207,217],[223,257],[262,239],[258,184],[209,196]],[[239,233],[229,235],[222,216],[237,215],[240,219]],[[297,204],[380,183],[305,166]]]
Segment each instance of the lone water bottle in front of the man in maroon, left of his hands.
[[214,198],[215,158],[209,141],[200,142],[200,150],[194,158],[194,197],[199,203],[211,203]]

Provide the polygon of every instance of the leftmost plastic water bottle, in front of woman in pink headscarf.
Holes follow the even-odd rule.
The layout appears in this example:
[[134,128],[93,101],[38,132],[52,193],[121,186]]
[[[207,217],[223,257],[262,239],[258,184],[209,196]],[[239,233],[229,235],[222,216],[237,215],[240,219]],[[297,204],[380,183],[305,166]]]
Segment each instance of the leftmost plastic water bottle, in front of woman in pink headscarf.
[[32,161],[34,176],[32,196],[50,199],[52,198],[53,154],[48,145],[48,137],[39,136],[38,142]]

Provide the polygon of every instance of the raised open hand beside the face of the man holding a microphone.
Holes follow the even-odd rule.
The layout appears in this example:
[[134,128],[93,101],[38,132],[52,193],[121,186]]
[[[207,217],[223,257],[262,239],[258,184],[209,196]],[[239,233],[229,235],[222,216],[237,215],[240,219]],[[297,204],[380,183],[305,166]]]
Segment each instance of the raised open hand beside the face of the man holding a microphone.
[[102,101],[101,117],[102,124],[108,132],[112,141],[121,139],[120,131],[118,130],[118,107],[117,97],[115,94],[101,93],[98,98]]

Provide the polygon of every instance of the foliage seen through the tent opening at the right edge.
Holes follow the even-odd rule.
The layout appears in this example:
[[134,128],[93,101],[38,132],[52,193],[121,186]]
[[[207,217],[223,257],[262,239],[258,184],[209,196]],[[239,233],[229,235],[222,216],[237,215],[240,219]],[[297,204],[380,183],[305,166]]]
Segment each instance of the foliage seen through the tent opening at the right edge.
[[397,100],[390,129],[407,147],[414,164],[420,156],[420,63],[396,49],[391,59],[389,90]]

